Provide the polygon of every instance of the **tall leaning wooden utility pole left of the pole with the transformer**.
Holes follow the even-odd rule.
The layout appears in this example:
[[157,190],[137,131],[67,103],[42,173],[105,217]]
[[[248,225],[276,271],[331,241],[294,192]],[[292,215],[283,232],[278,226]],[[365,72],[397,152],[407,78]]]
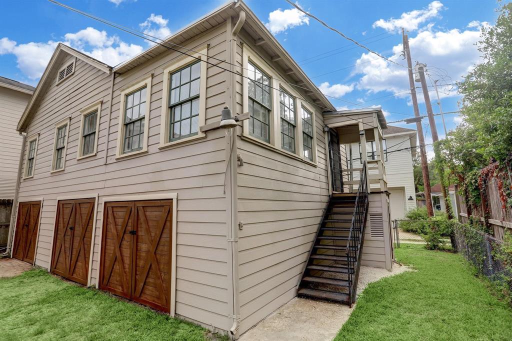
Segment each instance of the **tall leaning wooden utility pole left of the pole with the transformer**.
[[411,98],[414,108],[414,116],[416,117],[416,130],[419,138],[419,151],[421,156],[421,171],[423,173],[423,186],[425,191],[426,210],[429,217],[434,216],[434,208],[432,207],[432,196],[430,193],[430,177],[429,164],[426,160],[425,140],[423,138],[423,127],[421,126],[421,118],[419,117],[418,99],[416,98],[416,87],[414,84],[413,65],[411,61],[411,51],[409,50],[409,38],[402,29],[403,52],[406,54],[407,66],[409,68],[409,86],[411,88]]

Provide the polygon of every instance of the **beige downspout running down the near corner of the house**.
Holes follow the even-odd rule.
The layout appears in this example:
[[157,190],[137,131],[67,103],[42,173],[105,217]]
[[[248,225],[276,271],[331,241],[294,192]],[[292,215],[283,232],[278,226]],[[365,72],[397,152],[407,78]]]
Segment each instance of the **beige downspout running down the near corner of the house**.
[[[236,84],[237,74],[234,68],[236,49],[237,49],[237,36],[240,29],[245,23],[245,12],[241,11],[237,23],[234,25],[229,41],[229,56],[230,56],[230,88],[229,88],[229,99],[231,110],[234,114],[237,114],[237,96],[236,96]],[[232,279],[232,290],[233,290],[233,325],[229,330],[229,336],[231,339],[238,338],[238,331],[240,329],[240,302],[239,302],[239,275],[238,275],[238,161],[237,161],[237,139],[238,139],[238,126],[234,127],[232,132],[232,145],[231,145],[231,229],[228,241],[231,244],[231,279]]]

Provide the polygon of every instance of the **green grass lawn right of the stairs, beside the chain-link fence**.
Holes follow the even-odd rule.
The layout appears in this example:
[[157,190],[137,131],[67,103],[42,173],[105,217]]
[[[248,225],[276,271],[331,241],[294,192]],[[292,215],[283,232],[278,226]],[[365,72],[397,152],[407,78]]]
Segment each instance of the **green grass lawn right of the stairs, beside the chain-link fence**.
[[512,340],[512,309],[459,254],[402,244],[416,271],[370,284],[335,340]]

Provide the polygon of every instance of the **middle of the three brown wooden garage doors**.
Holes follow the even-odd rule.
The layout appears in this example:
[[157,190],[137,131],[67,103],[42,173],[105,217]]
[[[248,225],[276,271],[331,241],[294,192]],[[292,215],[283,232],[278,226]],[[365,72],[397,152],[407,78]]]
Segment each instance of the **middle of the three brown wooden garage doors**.
[[59,200],[51,271],[87,285],[95,199]]

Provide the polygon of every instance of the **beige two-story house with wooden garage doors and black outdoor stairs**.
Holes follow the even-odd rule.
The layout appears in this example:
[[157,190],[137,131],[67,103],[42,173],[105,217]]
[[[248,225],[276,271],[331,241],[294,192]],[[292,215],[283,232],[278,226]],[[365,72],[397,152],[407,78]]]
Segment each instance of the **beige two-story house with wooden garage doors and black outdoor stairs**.
[[[59,45],[17,126],[12,255],[232,338],[297,294],[353,304],[361,264],[392,266],[385,128],[242,1],[115,68]],[[342,140],[376,158],[344,168]]]

